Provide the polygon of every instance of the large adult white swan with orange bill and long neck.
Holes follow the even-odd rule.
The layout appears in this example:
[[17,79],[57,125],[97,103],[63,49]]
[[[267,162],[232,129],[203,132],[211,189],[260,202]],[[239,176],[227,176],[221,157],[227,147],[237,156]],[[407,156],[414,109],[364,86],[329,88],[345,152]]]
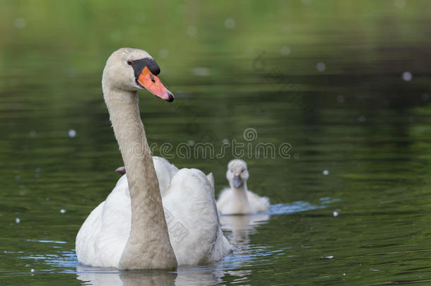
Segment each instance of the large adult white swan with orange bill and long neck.
[[174,95],[158,73],[154,59],[141,49],[122,48],[107,59],[103,95],[127,175],[78,232],[76,256],[85,265],[173,270],[215,261],[230,251],[220,229],[213,182],[198,169],[178,170],[151,156],[137,90],[172,102]]

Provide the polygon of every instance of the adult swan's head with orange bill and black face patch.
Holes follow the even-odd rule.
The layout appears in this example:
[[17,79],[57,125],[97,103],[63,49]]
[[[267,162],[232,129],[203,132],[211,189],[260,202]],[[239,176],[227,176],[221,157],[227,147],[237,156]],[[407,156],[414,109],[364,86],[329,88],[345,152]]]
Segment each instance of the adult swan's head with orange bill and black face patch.
[[142,49],[122,48],[107,59],[102,76],[103,90],[148,90],[153,95],[172,102],[174,95],[158,78],[160,67]]

